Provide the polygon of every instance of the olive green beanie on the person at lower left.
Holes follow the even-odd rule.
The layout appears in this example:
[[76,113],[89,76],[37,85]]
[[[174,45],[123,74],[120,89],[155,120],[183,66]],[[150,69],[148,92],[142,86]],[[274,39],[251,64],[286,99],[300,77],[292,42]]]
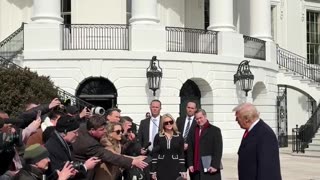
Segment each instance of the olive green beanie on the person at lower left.
[[29,146],[23,155],[23,159],[27,164],[35,164],[42,159],[49,158],[49,152],[40,144],[33,144]]

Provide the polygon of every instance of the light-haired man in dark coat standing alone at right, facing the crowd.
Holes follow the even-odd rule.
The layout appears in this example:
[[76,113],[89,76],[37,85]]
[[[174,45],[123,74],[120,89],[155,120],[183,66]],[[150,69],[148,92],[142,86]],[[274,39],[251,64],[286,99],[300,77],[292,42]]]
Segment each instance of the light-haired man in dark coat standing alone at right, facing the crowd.
[[234,108],[236,121],[245,129],[238,155],[239,180],[281,180],[278,140],[250,103]]

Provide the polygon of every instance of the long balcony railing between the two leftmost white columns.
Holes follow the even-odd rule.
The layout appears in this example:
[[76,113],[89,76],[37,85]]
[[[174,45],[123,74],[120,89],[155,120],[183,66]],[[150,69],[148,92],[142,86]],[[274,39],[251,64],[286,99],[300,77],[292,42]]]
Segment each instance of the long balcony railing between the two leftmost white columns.
[[63,50],[129,50],[126,24],[63,24]]

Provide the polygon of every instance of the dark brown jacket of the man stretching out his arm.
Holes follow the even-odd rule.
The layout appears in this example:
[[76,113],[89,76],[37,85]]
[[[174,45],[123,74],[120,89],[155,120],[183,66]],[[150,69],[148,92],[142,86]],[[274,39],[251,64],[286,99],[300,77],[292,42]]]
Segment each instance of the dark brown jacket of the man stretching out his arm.
[[[75,160],[84,162],[90,157],[98,157],[102,163],[130,168],[132,159],[122,155],[114,154],[106,150],[97,139],[92,137],[86,129],[81,127],[76,142],[72,144]],[[94,170],[89,170],[86,179],[94,179]]]

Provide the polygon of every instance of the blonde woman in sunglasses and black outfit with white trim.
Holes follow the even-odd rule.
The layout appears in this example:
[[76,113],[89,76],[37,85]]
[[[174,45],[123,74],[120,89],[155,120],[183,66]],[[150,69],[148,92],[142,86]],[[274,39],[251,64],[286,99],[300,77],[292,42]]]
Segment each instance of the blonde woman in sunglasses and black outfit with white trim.
[[154,138],[152,151],[152,179],[176,180],[187,178],[184,160],[184,139],[170,114],[162,116],[160,132]]

